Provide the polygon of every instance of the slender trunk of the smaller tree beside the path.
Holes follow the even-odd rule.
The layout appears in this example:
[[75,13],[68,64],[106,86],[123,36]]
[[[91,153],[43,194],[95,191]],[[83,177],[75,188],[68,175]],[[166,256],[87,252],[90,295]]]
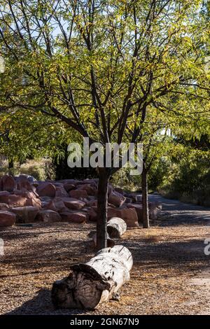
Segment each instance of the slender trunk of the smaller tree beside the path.
[[143,171],[141,174],[141,188],[142,188],[142,211],[143,211],[143,228],[149,228],[149,216],[148,216],[148,186],[146,177],[146,167],[143,162]]

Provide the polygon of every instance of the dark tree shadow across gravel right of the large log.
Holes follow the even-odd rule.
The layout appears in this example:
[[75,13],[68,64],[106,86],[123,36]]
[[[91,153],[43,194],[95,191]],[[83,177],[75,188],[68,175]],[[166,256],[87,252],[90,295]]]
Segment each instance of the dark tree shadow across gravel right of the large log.
[[[208,235],[207,235],[208,237]],[[134,264],[151,267],[182,267],[183,272],[201,271],[209,268],[209,255],[205,255],[204,239],[187,241],[156,241],[135,239],[123,241],[130,249]]]

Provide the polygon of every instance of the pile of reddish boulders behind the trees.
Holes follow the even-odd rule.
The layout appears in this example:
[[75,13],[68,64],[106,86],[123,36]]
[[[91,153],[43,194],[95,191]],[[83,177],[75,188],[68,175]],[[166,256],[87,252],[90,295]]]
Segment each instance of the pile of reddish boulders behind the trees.
[[[124,193],[109,184],[108,202],[108,220],[123,218],[128,227],[142,222],[141,195]],[[157,218],[160,210],[160,204],[149,203],[151,219]],[[0,226],[57,221],[97,221],[97,179],[33,181],[25,175],[0,179]]]

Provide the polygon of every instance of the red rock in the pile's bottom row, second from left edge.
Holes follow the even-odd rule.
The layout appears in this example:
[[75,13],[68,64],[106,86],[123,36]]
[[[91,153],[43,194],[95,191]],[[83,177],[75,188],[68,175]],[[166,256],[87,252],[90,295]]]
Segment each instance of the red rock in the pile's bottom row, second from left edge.
[[11,211],[16,214],[17,223],[33,223],[38,214],[39,208],[27,206],[12,208]]

